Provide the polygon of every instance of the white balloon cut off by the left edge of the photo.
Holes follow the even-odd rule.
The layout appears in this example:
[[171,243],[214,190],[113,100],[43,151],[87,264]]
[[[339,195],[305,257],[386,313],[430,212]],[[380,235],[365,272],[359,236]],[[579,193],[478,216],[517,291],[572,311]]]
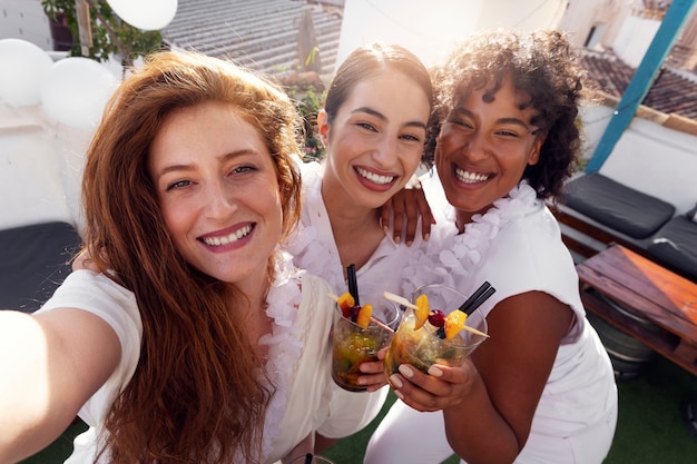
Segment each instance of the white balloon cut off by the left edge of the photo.
[[0,40],[0,98],[14,107],[37,105],[41,80],[53,65],[48,53],[20,39]]

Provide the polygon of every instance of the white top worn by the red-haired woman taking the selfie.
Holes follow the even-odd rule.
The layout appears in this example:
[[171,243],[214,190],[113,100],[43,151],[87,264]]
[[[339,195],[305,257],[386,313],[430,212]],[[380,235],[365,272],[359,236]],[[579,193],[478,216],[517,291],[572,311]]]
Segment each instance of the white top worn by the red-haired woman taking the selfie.
[[[328,339],[333,303],[326,297],[328,292],[324,280],[297,272],[284,254],[267,297],[273,332],[261,339],[268,345],[266,371],[277,388],[264,425],[264,463],[286,455],[313,430],[328,437],[346,436],[373,418],[369,395],[345,392],[332,381]],[[76,437],[75,451],[66,461],[91,463],[106,413],[137,367],[143,335],[139,310],[132,293],[89,270],[68,276],[39,312],[58,307],[76,307],[101,317],[121,344],[119,365],[79,412],[90,428]]]

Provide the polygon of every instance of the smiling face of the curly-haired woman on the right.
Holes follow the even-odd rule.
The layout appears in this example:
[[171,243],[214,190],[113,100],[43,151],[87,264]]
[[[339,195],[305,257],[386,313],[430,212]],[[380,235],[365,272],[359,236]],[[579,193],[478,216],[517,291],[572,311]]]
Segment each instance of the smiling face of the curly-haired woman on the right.
[[485,91],[457,99],[435,148],[435,166],[461,231],[472,215],[509,194],[526,166],[538,162],[544,141],[531,124],[536,110],[520,109],[526,96],[517,93],[510,80],[493,101],[484,101]]

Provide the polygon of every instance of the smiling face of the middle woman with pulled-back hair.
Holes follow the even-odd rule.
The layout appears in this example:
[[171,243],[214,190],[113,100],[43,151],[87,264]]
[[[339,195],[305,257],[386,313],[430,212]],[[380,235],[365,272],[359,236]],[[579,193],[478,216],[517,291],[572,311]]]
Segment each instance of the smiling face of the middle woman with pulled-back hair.
[[387,201],[421,161],[430,110],[414,80],[385,68],[356,83],[332,121],[322,112],[325,200],[341,197],[369,208]]

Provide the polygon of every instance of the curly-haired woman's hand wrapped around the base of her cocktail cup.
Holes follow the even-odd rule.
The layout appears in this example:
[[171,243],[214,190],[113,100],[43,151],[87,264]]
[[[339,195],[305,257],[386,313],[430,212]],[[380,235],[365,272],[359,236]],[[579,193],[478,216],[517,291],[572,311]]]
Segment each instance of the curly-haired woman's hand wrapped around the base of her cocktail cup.
[[470,359],[465,359],[460,367],[434,364],[428,374],[410,364],[402,364],[399,369],[399,374],[390,377],[395,387],[394,393],[409,406],[422,412],[461,405],[479,377]]

